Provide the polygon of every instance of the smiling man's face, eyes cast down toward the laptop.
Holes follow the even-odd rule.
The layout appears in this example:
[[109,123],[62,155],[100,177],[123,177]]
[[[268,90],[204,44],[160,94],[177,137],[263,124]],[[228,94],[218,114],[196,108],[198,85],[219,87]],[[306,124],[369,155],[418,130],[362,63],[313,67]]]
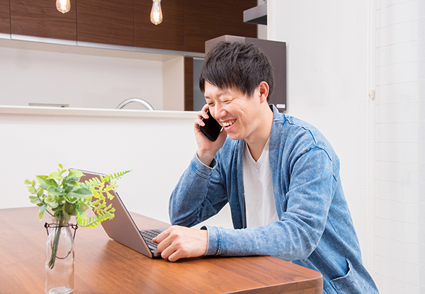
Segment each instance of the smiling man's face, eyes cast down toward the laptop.
[[261,126],[259,91],[252,97],[236,89],[219,89],[205,81],[210,113],[233,140],[254,140]]

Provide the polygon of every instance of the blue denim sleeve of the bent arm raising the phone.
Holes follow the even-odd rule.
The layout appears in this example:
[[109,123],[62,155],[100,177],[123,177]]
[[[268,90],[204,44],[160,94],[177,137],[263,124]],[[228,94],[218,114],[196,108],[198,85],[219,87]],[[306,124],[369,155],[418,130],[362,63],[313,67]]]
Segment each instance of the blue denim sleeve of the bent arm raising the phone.
[[210,166],[193,157],[169,200],[171,224],[192,227],[216,215],[227,203],[215,159]]

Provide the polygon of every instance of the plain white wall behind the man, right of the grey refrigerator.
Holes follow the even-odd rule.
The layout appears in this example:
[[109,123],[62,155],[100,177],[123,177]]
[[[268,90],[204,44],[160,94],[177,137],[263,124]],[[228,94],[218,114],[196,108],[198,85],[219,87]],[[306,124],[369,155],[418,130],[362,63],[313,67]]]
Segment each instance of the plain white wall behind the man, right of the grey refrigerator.
[[370,267],[367,16],[368,0],[268,0],[268,39],[287,43],[287,113],[319,128],[339,155],[344,192]]

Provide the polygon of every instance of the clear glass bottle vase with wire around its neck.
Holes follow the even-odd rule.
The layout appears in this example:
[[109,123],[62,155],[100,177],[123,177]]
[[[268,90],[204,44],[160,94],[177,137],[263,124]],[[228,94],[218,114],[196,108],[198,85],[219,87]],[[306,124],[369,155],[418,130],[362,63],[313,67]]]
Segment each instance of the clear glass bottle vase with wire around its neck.
[[[52,217],[53,223],[45,224],[46,243],[46,294],[65,294],[74,291],[74,235],[64,217]],[[50,229],[50,231],[49,231]],[[75,231],[74,231],[75,234]]]

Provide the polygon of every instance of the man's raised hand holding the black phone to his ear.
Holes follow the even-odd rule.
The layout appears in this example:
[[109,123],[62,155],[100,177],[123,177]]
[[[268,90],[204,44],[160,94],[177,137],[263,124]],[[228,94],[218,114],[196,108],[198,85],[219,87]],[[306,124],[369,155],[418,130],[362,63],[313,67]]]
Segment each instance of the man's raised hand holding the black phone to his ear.
[[217,140],[210,141],[203,133],[199,130],[199,126],[204,126],[202,118],[208,118],[207,114],[208,104],[203,106],[202,110],[198,111],[198,118],[195,120],[195,136],[196,136],[196,144],[198,144],[198,150],[196,154],[198,155],[198,159],[203,164],[210,166],[212,159],[214,159],[215,154],[218,149],[220,149],[224,144],[227,137],[227,133],[225,130],[220,132],[220,135],[217,137]]

